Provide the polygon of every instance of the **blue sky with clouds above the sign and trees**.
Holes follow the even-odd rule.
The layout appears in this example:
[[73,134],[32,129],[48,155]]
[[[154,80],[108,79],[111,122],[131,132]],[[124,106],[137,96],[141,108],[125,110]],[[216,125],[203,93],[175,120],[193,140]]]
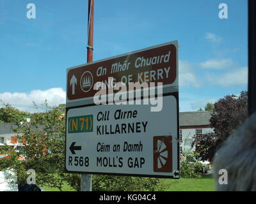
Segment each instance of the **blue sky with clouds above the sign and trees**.
[[[247,15],[244,0],[95,0],[93,60],[178,40],[180,111],[198,110],[247,90]],[[0,99],[31,112],[31,101],[65,103],[66,69],[86,62],[87,16],[88,0],[0,0]]]

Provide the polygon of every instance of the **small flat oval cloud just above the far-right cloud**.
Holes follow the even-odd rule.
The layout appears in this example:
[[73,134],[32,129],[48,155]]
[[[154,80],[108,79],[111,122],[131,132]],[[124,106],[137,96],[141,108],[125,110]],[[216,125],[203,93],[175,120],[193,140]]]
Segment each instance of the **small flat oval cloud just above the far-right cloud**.
[[209,59],[208,61],[200,63],[204,69],[225,69],[236,66],[232,59]]

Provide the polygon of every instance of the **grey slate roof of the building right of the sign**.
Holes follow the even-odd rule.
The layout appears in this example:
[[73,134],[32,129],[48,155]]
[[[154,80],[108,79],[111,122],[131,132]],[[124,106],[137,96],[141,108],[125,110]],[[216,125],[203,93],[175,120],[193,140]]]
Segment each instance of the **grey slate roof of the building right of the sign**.
[[180,126],[211,126],[212,111],[180,112]]

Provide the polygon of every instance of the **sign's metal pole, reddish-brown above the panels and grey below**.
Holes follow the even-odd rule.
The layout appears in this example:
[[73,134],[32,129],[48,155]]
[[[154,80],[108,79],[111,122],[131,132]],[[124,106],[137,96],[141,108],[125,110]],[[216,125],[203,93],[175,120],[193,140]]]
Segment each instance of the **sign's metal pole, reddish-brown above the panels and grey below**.
[[[87,63],[93,61],[93,8],[94,0],[88,0],[88,45]],[[92,175],[81,174],[81,191],[92,191]]]

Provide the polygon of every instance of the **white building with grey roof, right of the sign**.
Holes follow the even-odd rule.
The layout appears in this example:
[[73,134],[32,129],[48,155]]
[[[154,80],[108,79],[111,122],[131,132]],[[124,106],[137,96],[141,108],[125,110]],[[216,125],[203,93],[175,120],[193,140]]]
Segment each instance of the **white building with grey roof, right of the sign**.
[[180,152],[191,149],[194,135],[213,132],[209,121],[211,113],[212,111],[180,112]]

